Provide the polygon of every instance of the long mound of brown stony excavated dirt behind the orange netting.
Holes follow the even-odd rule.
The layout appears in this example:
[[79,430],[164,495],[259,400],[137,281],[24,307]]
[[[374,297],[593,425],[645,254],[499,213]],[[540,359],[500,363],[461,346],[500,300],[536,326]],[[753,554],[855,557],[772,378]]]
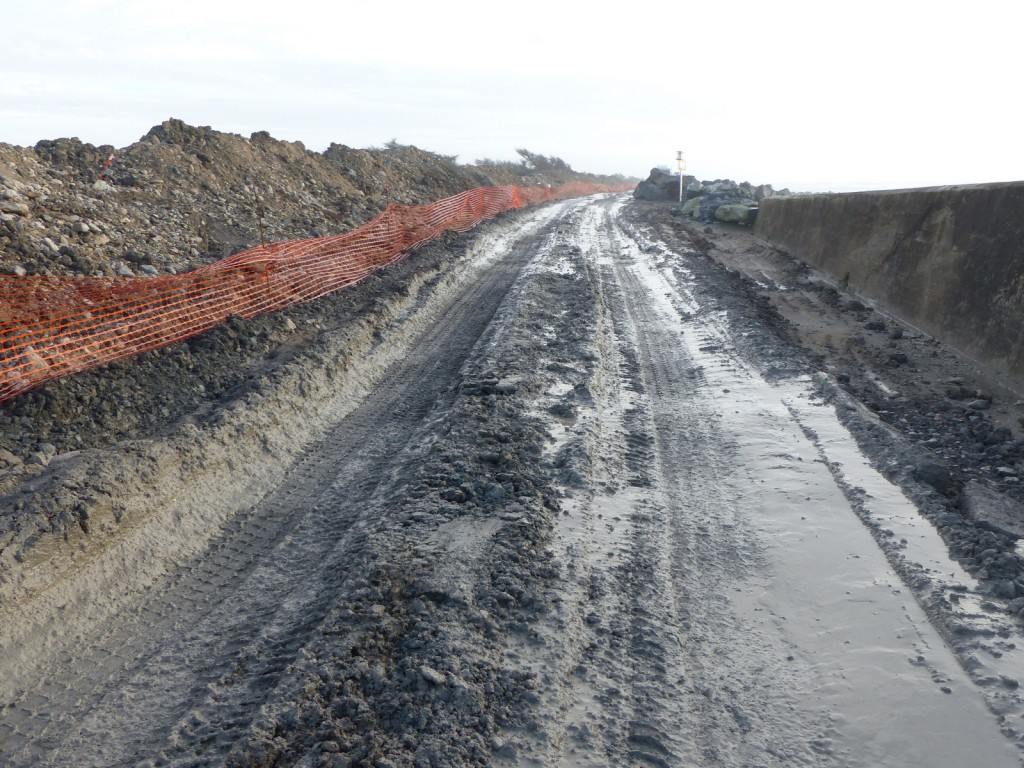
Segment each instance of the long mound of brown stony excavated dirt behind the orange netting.
[[180,272],[261,239],[346,231],[388,203],[574,180],[607,178],[464,166],[395,142],[377,150],[332,144],[321,154],[265,131],[246,138],[180,120],[122,150],[77,138],[34,148],[0,144],[0,272]]

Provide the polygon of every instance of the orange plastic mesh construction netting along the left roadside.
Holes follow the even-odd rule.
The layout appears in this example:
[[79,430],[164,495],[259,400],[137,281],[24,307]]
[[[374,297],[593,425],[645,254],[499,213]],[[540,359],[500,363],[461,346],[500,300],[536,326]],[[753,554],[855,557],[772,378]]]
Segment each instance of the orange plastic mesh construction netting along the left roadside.
[[486,186],[427,206],[390,206],[344,234],[251,248],[156,278],[0,275],[0,401],[43,382],[163,347],[231,315],[253,317],[332,293],[445,229],[512,208],[618,187]]

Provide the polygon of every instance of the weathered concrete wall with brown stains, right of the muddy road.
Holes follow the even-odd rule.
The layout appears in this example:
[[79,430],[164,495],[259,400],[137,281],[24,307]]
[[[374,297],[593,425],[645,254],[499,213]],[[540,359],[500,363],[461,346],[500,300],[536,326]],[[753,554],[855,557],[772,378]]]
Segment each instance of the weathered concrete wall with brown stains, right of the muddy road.
[[754,232],[1024,382],[1024,181],[769,198]]

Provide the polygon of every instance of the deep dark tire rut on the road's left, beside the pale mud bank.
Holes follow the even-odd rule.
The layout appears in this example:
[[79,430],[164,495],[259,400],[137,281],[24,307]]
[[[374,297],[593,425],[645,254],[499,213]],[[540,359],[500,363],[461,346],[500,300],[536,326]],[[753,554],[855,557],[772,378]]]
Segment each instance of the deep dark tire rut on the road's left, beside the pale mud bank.
[[222,762],[329,610],[346,540],[365,535],[366,510],[407,472],[395,457],[410,433],[455,396],[459,369],[545,237],[521,238],[476,275],[375,395],[203,556],[27,680],[0,720],[4,764]]

